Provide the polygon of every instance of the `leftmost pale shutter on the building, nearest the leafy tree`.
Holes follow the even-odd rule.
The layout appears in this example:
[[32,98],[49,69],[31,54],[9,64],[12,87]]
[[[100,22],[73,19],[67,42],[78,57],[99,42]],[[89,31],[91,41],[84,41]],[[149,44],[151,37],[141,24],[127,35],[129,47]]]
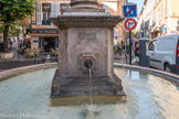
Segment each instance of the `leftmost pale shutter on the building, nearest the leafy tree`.
[[36,3],[36,24],[42,24],[42,3]]

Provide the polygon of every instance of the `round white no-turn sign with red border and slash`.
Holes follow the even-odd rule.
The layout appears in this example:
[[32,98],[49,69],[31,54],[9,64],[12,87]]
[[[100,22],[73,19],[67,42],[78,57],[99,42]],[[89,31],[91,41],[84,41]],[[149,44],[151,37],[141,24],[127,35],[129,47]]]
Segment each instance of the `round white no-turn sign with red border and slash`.
[[127,20],[125,21],[125,28],[126,28],[127,30],[134,30],[134,29],[136,28],[136,25],[137,25],[137,22],[136,22],[135,19],[127,19]]

